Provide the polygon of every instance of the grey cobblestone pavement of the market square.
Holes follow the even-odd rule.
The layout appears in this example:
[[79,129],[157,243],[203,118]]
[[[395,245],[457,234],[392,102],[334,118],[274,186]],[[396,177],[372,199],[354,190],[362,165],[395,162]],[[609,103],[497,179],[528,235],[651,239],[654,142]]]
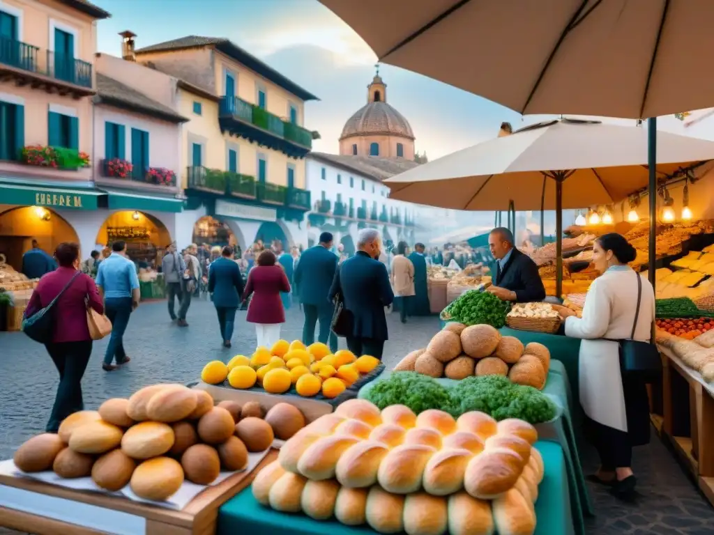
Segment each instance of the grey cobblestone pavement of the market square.
[[[154,382],[187,383],[196,380],[208,360],[227,361],[248,353],[256,345],[253,326],[238,312],[233,349],[221,347],[218,322],[211,303],[193,300],[188,312],[190,326],[176,327],[165,302],[142,304],[129,323],[125,347],[131,364],[107,373],[101,370],[106,340],[95,343],[84,375],[84,402],[94,409],[109,397],[126,397]],[[388,367],[407,352],[424,347],[438,329],[436,317],[410,318],[406,325],[398,315],[388,317],[391,340],[385,347]],[[302,314],[293,306],[287,312],[281,337],[301,337]],[[343,340],[341,340],[343,344]],[[33,434],[42,432],[56,389],[56,370],[44,348],[17,332],[0,333],[0,459]],[[595,469],[593,453],[583,444],[586,472]],[[597,516],[588,520],[593,535],[710,535],[714,533],[714,509],[675,462],[672,452],[653,435],[647,447],[635,451],[635,473],[641,491],[636,504],[616,501],[600,486],[591,485]],[[0,535],[17,535],[0,528]]]

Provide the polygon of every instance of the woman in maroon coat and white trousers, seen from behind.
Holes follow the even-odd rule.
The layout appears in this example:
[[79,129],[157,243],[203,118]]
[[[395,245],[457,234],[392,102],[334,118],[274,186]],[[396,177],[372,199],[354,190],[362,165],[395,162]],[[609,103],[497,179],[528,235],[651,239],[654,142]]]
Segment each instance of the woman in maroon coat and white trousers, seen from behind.
[[280,324],[285,322],[281,292],[290,292],[290,282],[281,265],[276,265],[275,253],[264,250],[256,267],[248,272],[243,300],[253,293],[248,306],[248,322],[256,324],[258,346],[268,349],[280,340]]

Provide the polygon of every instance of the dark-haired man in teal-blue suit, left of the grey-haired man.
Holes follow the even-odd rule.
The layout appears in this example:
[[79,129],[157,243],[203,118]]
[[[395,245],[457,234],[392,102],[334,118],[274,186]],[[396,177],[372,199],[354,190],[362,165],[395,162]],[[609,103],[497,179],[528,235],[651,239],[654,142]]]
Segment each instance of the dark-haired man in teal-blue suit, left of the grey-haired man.
[[334,307],[328,300],[330,285],[335,277],[338,258],[332,252],[332,234],[322,233],[320,243],[306,250],[300,257],[293,273],[293,282],[298,290],[305,313],[303,344],[315,341],[315,325],[320,322],[318,341],[330,342],[330,350],[337,351],[337,337],[330,330]]

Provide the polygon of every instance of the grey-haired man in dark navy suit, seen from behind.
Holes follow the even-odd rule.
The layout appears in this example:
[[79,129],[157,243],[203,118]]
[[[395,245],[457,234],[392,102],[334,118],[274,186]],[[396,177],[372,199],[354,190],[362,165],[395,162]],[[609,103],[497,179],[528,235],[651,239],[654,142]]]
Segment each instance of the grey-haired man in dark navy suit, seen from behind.
[[351,312],[351,336],[347,347],[358,357],[372,355],[381,360],[387,340],[384,307],[394,300],[387,268],[379,260],[381,238],[373,228],[360,231],[358,251],[345,260],[335,274],[330,298],[341,295],[345,310]]

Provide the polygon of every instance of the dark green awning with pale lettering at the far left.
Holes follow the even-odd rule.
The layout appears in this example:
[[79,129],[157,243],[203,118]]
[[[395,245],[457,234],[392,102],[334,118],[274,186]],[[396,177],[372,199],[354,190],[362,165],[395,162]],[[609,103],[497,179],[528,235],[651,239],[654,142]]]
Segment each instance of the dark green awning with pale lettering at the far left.
[[29,183],[0,182],[0,204],[46,206],[69,210],[96,210],[104,191],[94,188],[67,188]]

